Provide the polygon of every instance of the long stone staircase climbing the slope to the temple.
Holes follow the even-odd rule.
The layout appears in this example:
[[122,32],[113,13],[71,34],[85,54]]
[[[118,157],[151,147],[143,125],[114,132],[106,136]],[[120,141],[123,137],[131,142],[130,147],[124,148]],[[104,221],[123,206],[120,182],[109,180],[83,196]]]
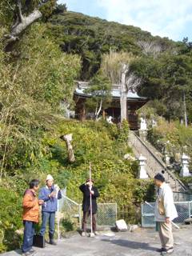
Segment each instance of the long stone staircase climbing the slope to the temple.
[[146,172],[150,178],[162,170],[165,170],[166,182],[174,192],[187,192],[188,188],[170,171],[166,168],[165,162],[162,161],[161,154],[150,144],[150,142],[143,141],[134,131],[130,131],[129,145],[134,151],[136,158],[142,154],[146,158]]

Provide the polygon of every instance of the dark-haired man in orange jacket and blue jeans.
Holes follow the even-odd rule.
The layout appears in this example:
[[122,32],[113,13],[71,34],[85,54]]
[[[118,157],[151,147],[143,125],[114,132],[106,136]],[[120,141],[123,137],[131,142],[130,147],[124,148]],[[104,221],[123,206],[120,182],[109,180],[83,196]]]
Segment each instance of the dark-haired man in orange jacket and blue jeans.
[[39,181],[33,179],[30,182],[30,189],[27,189],[24,193],[22,200],[22,220],[24,225],[24,236],[22,243],[22,255],[28,256],[33,255],[32,250],[33,239],[34,239],[34,225],[38,223],[39,210],[38,206],[42,205],[43,201],[38,200],[37,191],[39,188]]

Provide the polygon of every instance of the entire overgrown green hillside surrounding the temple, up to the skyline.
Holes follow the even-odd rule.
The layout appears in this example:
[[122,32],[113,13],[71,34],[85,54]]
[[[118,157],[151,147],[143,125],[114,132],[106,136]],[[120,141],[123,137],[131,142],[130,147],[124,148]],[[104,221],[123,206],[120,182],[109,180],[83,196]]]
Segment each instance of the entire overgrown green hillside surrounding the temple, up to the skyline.
[[[14,0],[8,6],[6,0],[0,2],[0,252],[21,244],[22,194],[32,178],[39,178],[42,186],[46,174],[53,174],[61,187],[67,186],[70,198],[79,202],[78,185],[84,182],[91,161],[100,202],[118,200],[119,218],[138,222],[140,203],[153,200],[152,182],[138,180],[138,163],[124,158],[131,154],[127,122],[118,129],[102,121],[63,118],[61,102],[74,108],[76,81],[98,74],[104,54],[114,50],[134,56],[130,70],[141,78],[138,92],[151,99],[144,115],[181,119],[185,93],[192,121],[192,51],[187,39],[152,37],[134,26],[56,11],[56,0],[47,3],[41,9],[36,1],[22,2],[26,18],[35,8],[42,16],[16,34],[11,28],[18,24],[18,6]],[[70,133],[73,164],[60,138]],[[156,134],[166,141],[161,130],[154,130],[151,140]],[[176,139],[181,134],[182,129],[177,129]],[[188,137],[182,138],[178,148],[186,141]]]

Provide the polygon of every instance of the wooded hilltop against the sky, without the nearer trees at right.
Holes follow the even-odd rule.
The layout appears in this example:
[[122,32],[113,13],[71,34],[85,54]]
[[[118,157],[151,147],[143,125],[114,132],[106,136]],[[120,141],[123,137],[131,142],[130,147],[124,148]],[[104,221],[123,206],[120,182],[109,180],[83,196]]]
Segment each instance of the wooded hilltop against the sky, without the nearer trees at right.
[[89,79],[98,71],[102,54],[110,49],[141,55],[140,41],[153,41],[160,44],[163,50],[177,45],[168,38],[153,37],[150,32],[135,26],[70,11],[53,15],[49,22],[49,33],[62,50],[82,56],[82,79]]

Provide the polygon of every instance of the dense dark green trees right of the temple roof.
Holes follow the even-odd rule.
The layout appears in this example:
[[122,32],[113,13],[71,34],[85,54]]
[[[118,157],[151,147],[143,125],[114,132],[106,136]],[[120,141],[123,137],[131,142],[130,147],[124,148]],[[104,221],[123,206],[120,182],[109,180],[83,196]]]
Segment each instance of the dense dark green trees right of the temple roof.
[[[142,78],[140,94],[151,100],[158,100],[166,106],[163,116],[167,119],[184,119],[186,111],[191,120],[190,105],[192,100],[192,58],[190,53],[162,53],[158,58],[137,58],[130,66],[134,73]],[[154,105],[155,107],[155,105]]]

